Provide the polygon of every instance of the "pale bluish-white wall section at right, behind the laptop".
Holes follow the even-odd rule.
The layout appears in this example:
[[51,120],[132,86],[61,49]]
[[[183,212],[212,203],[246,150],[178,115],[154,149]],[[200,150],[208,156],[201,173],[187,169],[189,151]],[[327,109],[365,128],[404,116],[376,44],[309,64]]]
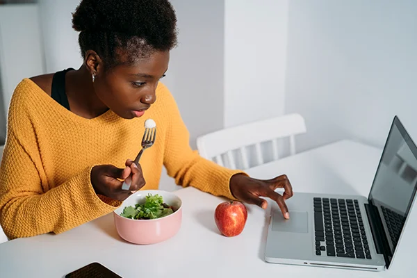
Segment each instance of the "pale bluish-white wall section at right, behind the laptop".
[[290,1],[286,113],[301,149],[352,138],[382,147],[395,114],[417,141],[417,1]]

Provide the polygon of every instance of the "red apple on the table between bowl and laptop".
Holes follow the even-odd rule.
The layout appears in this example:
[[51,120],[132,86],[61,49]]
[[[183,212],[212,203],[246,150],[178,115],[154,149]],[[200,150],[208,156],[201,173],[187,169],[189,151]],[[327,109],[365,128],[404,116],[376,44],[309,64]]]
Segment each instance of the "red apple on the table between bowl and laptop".
[[238,236],[246,224],[246,206],[236,201],[222,202],[215,208],[214,220],[224,236]]

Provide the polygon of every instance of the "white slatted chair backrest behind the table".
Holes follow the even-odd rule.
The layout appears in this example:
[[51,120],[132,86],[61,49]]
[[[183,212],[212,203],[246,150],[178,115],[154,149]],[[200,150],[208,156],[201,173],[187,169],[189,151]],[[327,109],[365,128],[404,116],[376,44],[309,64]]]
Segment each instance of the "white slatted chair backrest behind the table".
[[[279,139],[289,138],[290,154],[295,154],[295,136],[305,133],[304,118],[299,114],[288,114],[268,120],[242,124],[228,129],[208,133],[197,138],[200,156],[219,165],[236,169],[234,153],[240,153],[239,169],[250,167],[248,147],[254,146],[255,165],[264,163],[261,143],[272,142],[272,160],[279,159]],[[225,158],[225,159],[224,159]]]

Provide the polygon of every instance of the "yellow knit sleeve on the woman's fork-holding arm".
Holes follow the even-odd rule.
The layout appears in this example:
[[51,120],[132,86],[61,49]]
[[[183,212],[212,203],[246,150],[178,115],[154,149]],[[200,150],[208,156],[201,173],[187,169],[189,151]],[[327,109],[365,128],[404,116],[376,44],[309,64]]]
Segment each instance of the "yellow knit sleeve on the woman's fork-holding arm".
[[12,102],[0,167],[0,224],[8,238],[58,234],[120,205],[95,193],[90,179],[94,165],[63,184],[47,184],[32,119],[19,98]]

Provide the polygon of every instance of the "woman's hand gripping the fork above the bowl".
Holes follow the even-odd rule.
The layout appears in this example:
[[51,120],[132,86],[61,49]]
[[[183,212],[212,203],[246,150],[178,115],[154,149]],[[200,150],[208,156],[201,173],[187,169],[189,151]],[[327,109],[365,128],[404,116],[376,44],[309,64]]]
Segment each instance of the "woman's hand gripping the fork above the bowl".
[[[130,177],[131,187],[122,190],[123,181]],[[142,168],[128,159],[124,169],[113,165],[97,165],[91,170],[91,183],[95,192],[117,201],[124,201],[132,193],[145,186]]]

